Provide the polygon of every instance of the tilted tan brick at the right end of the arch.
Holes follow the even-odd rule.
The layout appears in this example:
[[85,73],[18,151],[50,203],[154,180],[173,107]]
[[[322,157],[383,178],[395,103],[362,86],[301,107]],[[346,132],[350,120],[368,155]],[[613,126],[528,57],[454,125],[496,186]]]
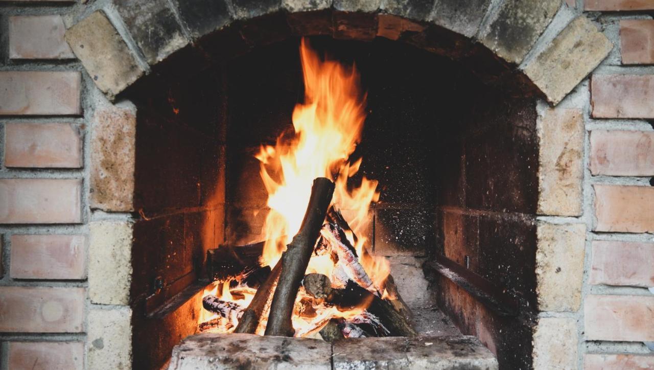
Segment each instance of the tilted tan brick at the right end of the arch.
[[583,78],[608,56],[613,44],[585,16],[579,16],[524,70],[545,93],[547,100],[559,103]]

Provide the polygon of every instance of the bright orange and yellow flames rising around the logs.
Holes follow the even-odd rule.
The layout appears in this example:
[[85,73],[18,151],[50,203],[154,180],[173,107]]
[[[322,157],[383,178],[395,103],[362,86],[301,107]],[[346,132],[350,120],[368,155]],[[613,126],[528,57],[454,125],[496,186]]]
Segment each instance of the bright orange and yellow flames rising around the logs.
[[[313,179],[326,177],[336,184],[334,207],[346,212],[347,221],[357,235],[356,241],[352,232],[346,236],[365,270],[363,275],[370,278],[373,290],[381,292],[390,273],[389,263],[365,250],[368,242],[366,230],[370,226],[369,208],[379,199],[377,181],[363,177],[360,184],[356,184],[358,186],[348,186],[348,180],[352,182],[351,178],[358,173],[362,163],[361,159],[351,162],[349,157],[360,142],[366,118],[366,95],[360,90],[359,75],[354,67],[320,58],[304,39],[300,45],[300,57],[305,97],[292,114],[294,133],[281,135],[274,146],[262,145],[256,155],[261,162],[260,175],[270,208],[264,223],[266,244],[261,265],[273,267],[279,261],[286,244],[300,229]],[[330,256],[313,256],[307,273],[332,277],[335,268]],[[298,302],[306,296],[301,290]],[[224,289],[221,297],[234,301],[229,289]],[[240,303],[247,307],[251,299],[251,296],[244,297]],[[353,318],[362,314],[366,307],[341,312],[335,307],[317,303],[315,309],[317,314],[310,319],[294,315],[297,336],[319,330],[320,323],[326,324],[325,320],[329,318]]]

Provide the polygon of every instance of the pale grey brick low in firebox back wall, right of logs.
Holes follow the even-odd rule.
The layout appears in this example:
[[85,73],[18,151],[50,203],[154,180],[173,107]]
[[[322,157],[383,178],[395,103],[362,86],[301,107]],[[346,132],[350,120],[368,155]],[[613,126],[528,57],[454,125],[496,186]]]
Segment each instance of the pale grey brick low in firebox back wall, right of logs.
[[402,299],[411,307],[430,307],[434,297],[429,294],[429,284],[422,273],[424,258],[390,257],[390,273],[398,286]]

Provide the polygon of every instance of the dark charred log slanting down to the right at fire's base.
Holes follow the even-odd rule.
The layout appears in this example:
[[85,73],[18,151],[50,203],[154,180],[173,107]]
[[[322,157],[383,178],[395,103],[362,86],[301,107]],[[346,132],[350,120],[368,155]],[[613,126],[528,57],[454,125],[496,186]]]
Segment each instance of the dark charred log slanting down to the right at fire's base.
[[418,335],[409,320],[400,312],[395,311],[388,301],[368,292],[351,280],[344,289],[334,289],[326,301],[336,305],[341,311],[367,305],[366,311],[379,318],[391,337],[416,337]]

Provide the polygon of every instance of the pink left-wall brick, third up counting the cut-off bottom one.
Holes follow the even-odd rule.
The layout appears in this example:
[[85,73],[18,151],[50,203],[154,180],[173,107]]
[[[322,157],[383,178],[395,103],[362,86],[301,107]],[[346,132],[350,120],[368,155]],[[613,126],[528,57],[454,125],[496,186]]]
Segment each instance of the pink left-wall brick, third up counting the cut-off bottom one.
[[12,235],[12,278],[86,278],[84,235]]

